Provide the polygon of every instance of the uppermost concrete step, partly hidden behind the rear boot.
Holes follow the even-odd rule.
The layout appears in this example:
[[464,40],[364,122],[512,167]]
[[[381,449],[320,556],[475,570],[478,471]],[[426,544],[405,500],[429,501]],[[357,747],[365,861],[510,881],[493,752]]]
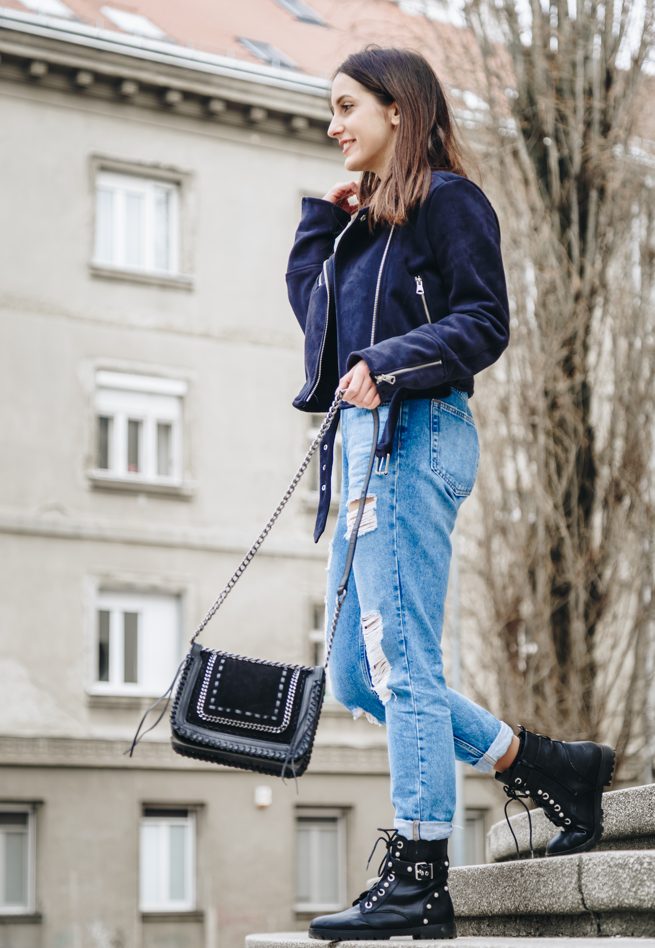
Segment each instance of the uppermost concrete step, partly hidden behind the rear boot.
[[[519,803],[512,803],[509,812],[519,808]],[[531,810],[530,816],[532,845],[536,853],[543,855],[546,843],[559,829],[546,819],[543,810]],[[521,809],[510,821],[521,853],[529,855],[528,814]],[[603,838],[594,851],[655,849],[655,784],[604,793],[603,826]],[[491,827],[487,843],[492,862],[516,859],[516,846],[506,820]]]

